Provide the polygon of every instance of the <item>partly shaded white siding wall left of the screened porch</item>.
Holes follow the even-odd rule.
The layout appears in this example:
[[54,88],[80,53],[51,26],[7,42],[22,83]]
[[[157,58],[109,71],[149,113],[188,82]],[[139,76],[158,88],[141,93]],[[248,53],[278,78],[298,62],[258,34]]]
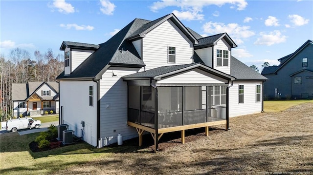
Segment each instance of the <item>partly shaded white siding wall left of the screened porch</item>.
[[[112,77],[112,71],[116,76]],[[114,68],[100,80],[100,138],[108,137],[110,143],[117,142],[118,134],[122,134],[123,140],[138,136],[134,127],[127,126],[127,82],[121,78],[137,71]],[[106,145],[103,140],[102,146]]]

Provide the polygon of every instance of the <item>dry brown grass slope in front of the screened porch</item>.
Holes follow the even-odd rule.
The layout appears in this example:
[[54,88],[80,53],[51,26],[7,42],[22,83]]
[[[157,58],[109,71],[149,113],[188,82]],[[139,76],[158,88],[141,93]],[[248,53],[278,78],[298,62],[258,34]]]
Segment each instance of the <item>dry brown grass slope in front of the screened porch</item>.
[[208,137],[187,136],[185,144],[177,143],[179,138],[160,140],[156,154],[111,154],[53,174],[313,174],[313,103],[234,117],[230,128],[210,128]]

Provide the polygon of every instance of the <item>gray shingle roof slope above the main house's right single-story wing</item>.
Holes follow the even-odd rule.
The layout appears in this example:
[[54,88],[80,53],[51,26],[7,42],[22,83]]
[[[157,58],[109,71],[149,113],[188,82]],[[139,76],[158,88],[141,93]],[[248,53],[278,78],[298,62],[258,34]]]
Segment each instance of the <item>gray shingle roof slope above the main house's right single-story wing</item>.
[[253,71],[243,62],[238,59],[230,58],[230,75],[234,76],[236,80],[266,80],[268,78],[262,76],[261,74]]

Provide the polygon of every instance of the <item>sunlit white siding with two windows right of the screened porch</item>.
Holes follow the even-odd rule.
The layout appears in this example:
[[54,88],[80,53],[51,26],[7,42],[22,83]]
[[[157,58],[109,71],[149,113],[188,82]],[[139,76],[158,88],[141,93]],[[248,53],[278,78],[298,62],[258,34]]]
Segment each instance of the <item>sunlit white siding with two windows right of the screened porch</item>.
[[[229,117],[236,117],[254,113],[260,113],[262,111],[262,100],[261,103],[255,102],[255,87],[257,84],[262,82],[234,82],[233,86],[229,88]],[[239,85],[244,85],[244,103],[239,104],[238,90]]]

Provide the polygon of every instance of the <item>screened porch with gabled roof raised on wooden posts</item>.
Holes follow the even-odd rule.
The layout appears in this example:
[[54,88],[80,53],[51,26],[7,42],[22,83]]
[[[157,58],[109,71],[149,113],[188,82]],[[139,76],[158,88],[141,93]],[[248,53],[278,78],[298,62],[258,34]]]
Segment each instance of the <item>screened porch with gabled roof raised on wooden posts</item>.
[[[184,67],[185,66],[185,67]],[[123,77],[128,82],[128,125],[155,140],[168,132],[225,124],[231,76],[202,64],[164,66]]]

